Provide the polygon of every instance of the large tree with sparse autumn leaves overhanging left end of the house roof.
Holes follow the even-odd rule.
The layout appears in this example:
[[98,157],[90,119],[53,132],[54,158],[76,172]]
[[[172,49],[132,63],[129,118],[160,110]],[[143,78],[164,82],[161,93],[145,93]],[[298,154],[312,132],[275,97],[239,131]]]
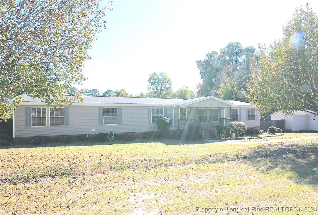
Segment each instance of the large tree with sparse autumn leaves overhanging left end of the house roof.
[[106,27],[106,10],[99,0],[1,1],[0,118],[8,117],[22,94],[56,106],[81,98],[65,94],[85,79],[83,61],[100,27]]

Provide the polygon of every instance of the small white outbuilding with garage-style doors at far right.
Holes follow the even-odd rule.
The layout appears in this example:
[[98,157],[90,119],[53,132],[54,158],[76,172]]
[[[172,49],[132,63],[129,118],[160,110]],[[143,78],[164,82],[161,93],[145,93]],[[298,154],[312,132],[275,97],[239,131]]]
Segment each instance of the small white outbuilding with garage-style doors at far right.
[[272,119],[285,119],[285,128],[294,131],[311,130],[318,131],[318,116],[314,114],[295,111],[291,116],[286,116],[281,111],[271,114]]

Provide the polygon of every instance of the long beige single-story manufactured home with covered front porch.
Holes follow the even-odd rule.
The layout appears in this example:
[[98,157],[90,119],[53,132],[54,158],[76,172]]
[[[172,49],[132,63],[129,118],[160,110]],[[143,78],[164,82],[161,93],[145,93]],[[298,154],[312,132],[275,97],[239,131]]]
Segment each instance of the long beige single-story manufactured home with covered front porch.
[[36,135],[91,137],[98,133],[115,134],[157,131],[156,121],[172,119],[171,129],[199,123],[204,129],[217,124],[229,126],[242,121],[259,129],[259,110],[239,101],[213,96],[191,99],[83,96],[84,102],[54,110],[41,99],[23,95],[14,111],[14,138],[25,140]]

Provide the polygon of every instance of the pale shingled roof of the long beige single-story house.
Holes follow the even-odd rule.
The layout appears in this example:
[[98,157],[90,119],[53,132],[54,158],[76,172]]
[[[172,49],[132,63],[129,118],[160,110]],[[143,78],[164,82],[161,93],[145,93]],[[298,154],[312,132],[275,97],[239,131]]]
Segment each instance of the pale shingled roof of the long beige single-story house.
[[[31,104],[31,103],[44,103],[39,98],[32,98],[26,95],[22,95],[23,102],[21,104]],[[72,97],[72,96],[68,96]],[[190,98],[190,99],[176,99],[176,98],[140,98],[140,97],[105,97],[105,96],[82,96],[84,98],[84,102],[80,103],[78,101],[74,101],[73,104],[135,104],[135,105],[188,105],[193,104],[199,101],[203,101],[209,98],[216,99],[218,101],[224,102],[225,104],[229,105],[246,105],[252,106],[246,102],[239,102],[239,101],[225,101],[213,96],[205,96],[205,97],[197,97],[197,98]],[[236,104],[234,104],[234,102]]]

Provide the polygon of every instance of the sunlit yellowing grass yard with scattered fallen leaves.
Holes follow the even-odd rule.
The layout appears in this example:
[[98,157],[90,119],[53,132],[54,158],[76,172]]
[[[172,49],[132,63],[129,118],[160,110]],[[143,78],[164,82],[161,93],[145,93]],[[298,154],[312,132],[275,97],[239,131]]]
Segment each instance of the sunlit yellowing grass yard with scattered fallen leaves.
[[108,143],[0,149],[0,214],[318,214],[318,139]]

